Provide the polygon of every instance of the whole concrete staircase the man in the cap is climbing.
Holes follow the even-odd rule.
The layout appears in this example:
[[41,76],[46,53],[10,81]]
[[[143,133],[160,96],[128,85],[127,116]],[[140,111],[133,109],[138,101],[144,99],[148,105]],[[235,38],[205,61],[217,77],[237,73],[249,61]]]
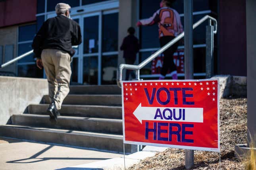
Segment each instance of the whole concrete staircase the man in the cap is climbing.
[[[71,86],[57,124],[49,121],[43,104],[29,105],[21,115],[12,115],[11,124],[0,126],[0,136],[123,152],[121,89],[115,85]],[[125,152],[137,145],[125,144]]]

